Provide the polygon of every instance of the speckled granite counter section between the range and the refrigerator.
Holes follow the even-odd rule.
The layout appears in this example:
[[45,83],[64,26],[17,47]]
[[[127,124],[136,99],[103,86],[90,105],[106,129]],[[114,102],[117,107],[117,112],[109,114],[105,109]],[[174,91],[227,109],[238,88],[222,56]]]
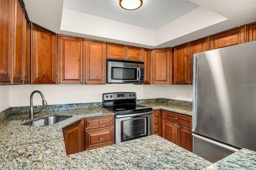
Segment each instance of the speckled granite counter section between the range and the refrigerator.
[[192,116],[192,106],[184,106],[184,105],[177,105],[177,104],[171,104],[171,103],[144,103],[141,104],[143,106],[152,107],[153,110],[157,109],[163,109],[170,112],[185,114],[188,116]]

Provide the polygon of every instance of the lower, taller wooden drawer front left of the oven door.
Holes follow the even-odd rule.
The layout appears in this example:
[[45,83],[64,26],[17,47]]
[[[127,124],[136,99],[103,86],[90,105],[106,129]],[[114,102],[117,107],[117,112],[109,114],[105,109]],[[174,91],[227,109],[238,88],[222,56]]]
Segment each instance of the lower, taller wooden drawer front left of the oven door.
[[85,131],[86,150],[114,144],[114,127]]

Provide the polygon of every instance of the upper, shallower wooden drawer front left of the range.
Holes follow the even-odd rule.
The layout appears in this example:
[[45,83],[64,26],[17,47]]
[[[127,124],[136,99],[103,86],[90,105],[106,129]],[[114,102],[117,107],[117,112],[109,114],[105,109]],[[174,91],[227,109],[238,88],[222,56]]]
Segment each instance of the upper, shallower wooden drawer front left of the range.
[[114,116],[85,119],[85,130],[114,126]]

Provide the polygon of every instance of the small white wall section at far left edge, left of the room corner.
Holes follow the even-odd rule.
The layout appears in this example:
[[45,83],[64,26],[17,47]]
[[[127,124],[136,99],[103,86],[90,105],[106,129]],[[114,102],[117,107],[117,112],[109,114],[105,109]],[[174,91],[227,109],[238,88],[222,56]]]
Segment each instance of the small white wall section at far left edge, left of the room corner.
[[0,112],[10,107],[9,86],[0,86]]

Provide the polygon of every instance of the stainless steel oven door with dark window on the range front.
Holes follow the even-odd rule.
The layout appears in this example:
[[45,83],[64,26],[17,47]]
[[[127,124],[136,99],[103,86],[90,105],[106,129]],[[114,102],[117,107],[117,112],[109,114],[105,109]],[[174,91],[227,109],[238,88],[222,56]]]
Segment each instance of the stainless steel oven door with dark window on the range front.
[[153,134],[153,112],[116,115],[115,143]]

